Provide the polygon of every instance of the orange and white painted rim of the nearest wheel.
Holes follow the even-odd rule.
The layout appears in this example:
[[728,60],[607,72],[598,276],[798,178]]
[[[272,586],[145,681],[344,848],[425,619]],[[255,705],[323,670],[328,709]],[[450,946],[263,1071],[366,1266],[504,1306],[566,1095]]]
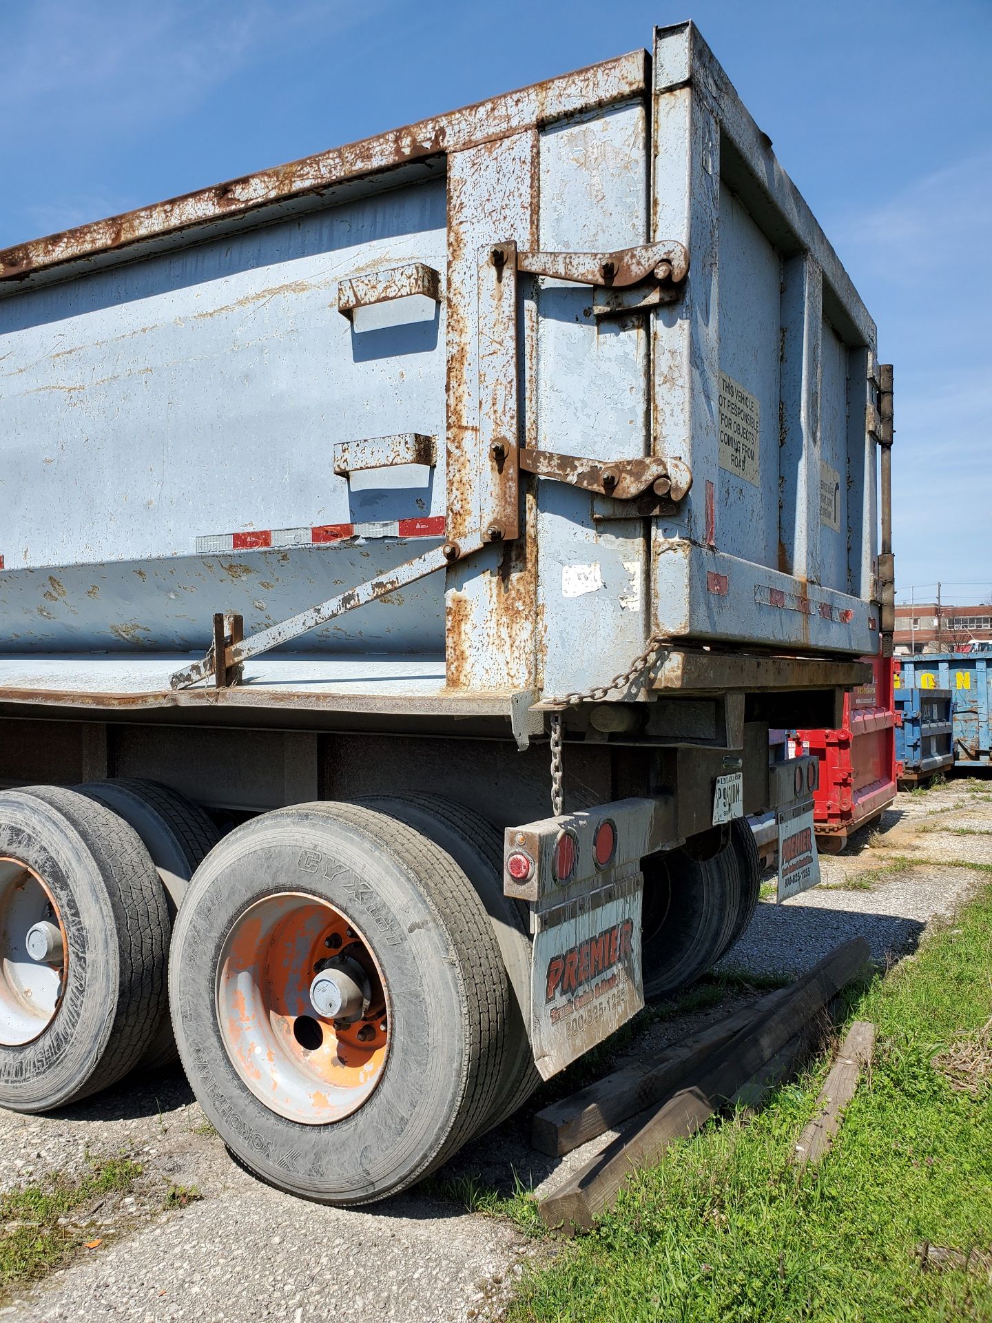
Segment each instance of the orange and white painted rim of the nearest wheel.
[[[328,979],[360,990],[341,1015],[313,991]],[[357,1111],[385,1070],[389,1013],[372,947],[320,897],[278,892],[231,925],[217,970],[221,1036],[245,1085],[278,1115],[317,1126]]]

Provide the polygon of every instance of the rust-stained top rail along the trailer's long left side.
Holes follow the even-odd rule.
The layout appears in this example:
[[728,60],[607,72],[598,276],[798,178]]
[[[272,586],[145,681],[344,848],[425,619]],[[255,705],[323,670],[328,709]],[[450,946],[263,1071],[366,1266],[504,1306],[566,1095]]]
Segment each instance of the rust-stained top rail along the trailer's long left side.
[[623,101],[644,90],[645,61],[645,53],[635,50],[574,74],[552,78],[274,169],[245,175],[91,225],[16,245],[0,251],[0,280],[21,280],[34,271],[97,253],[118,251],[142,239],[176,234],[221,217],[249,214],[288,198],[320,194],[361,175],[496,142],[530,124],[559,119],[574,110]]

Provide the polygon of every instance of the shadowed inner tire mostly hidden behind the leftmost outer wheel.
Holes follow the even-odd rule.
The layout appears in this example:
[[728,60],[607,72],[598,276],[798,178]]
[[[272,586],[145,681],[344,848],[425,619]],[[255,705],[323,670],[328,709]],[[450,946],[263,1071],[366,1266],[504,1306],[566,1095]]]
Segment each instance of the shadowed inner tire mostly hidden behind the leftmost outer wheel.
[[[97,799],[132,827],[151,855],[165,892],[167,929],[163,983],[168,980],[168,947],[172,925],[190,878],[221,839],[209,815],[198,806],[157,781],[122,777],[116,781],[87,781],[78,794]],[[179,1061],[168,1007],[159,1029],[142,1058],[147,1070],[163,1070]]]

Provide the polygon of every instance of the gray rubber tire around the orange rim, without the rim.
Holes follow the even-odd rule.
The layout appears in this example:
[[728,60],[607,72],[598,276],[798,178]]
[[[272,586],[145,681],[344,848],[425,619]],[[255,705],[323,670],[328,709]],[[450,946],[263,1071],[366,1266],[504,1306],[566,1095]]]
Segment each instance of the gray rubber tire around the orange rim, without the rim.
[[[220,1024],[227,934],[280,896],[339,910],[382,975],[385,1066],[357,1110],[329,1123],[263,1103]],[[204,1111],[246,1167],[304,1197],[361,1204],[413,1184],[479,1130],[500,1081],[505,975],[483,904],[448,855],[364,806],[298,804],[226,836],[179,913],[169,990]]]

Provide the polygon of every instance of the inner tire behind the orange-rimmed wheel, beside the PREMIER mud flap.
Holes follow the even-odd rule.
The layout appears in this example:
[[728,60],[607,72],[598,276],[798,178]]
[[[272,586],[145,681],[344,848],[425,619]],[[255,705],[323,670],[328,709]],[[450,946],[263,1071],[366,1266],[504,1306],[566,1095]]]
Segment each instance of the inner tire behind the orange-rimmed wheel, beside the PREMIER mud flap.
[[503,832],[475,810],[439,795],[370,796],[360,802],[406,823],[451,855],[489,916],[509,980],[503,1080],[481,1126],[483,1131],[491,1130],[521,1107],[541,1084],[528,1035],[532,946],[521,906],[503,892]]

